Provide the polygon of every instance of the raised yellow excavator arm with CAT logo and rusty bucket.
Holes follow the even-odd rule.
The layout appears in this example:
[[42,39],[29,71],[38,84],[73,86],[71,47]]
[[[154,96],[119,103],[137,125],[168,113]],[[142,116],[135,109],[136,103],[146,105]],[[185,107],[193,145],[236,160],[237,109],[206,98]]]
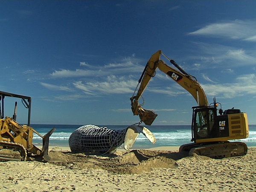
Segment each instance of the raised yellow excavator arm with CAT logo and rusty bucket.
[[[208,106],[207,97],[204,93],[204,90],[202,89],[196,78],[186,73],[179,65],[176,64],[174,60],[170,60],[166,55],[164,55],[177,69],[167,65],[163,60],[160,60],[161,54],[164,55],[162,51],[159,50],[154,53],[148,60],[139,79],[137,87],[134,90],[134,94],[130,98],[131,110],[133,114],[139,115],[140,120],[144,122],[145,125],[151,125],[157,114],[154,113],[154,111],[143,109],[138,101],[142,96],[143,91],[147,87],[150,79],[155,76],[157,68],[165,73],[167,76],[169,76],[171,79],[176,81],[181,87],[186,89],[195,98],[198,106]],[[134,96],[136,91],[137,95]]]

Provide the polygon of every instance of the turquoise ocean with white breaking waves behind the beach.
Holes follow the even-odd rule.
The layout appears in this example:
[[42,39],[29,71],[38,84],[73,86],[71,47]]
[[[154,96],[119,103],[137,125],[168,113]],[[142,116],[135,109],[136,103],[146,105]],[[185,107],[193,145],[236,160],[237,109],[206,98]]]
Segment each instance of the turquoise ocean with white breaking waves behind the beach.
[[[43,125],[43,124],[32,124],[31,127],[38,131],[41,135],[46,134],[52,128],[55,131],[50,137],[50,146],[69,146],[68,139],[70,134],[73,133],[81,125]],[[97,125],[99,127],[107,127],[113,130],[119,130],[127,128],[128,125]],[[152,144],[142,133],[137,138],[132,148],[143,149],[163,146],[180,146],[187,143],[192,143],[191,140],[191,125],[151,125],[145,126],[148,128],[156,138],[156,143]],[[241,140],[247,144],[248,147],[256,146],[256,125],[249,125],[249,137]],[[40,146],[42,139],[34,133],[33,144]],[[123,145],[121,145],[123,147]]]

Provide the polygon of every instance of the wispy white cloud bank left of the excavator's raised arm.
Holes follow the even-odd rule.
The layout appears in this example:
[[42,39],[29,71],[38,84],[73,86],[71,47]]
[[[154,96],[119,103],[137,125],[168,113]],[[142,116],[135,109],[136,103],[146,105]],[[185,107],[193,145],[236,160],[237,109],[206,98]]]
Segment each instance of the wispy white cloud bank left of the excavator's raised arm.
[[55,79],[55,84],[58,84],[58,79],[61,78],[61,84],[66,83],[66,87],[54,85],[53,83],[41,83],[41,85],[51,90],[73,90],[74,93],[79,93],[80,90],[80,94],[84,96],[133,93],[140,75],[134,78],[129,74],[143,71],[144,66],[139,65],[139,61],[134,57],[125,57],[120,62],[109,63],[103,67],[80,62],[80,66],[87,69],[61,69],[55,70],[50,74],[50,77]]

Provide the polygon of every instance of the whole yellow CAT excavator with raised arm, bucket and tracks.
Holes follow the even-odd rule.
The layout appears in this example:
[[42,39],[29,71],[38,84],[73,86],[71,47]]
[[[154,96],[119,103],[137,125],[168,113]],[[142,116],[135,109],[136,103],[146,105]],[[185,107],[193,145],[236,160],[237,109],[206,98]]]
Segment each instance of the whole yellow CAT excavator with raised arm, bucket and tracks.
[[[161,55],[164,55],[176,68],[170,67],[160,60]],[[157,68],[186,89],[198,104],[192,107],[191,141],[193,143],[181,145],[180,152],[186,152],[189,155],[195,153],[212,158],[235,157],[247,153],[245,143],[228,141],[248,137],[247,114],[234,108],[223,111],[221,104],[216,102],[215,98],[213,103],[208,105],[207,97],[197,79],[186,73],[161,50],[154,53],[148,60],[134,94],[130,98],[131,110],[134,115],[139,115],[141,122],[151,125],[157,117],[154,111],[143,109],[139,104],[139,99],[150,79],[155,76]],[[137,95],[135,95],[136,91]]]

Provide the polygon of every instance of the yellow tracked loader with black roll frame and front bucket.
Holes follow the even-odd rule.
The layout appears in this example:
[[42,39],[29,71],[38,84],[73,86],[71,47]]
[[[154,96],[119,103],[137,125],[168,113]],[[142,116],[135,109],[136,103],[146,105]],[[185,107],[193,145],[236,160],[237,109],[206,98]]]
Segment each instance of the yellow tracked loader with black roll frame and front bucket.
[[[16,122],[17,102],[15,102],[13,116],[4,116],[4,100],[6,97],[21,99],[25,108],[28,109],[27,125],[20,125]],[[30,127],[30,114],[31,97],[0,91],[0,161],[26,161],[27,155],[30,154],[40,155],[44,160],[51,159],[48,155],[49,137],[55,131],[55,128],[42,136]],[[43,139],[42,149],[33,145],[33,133]]]

